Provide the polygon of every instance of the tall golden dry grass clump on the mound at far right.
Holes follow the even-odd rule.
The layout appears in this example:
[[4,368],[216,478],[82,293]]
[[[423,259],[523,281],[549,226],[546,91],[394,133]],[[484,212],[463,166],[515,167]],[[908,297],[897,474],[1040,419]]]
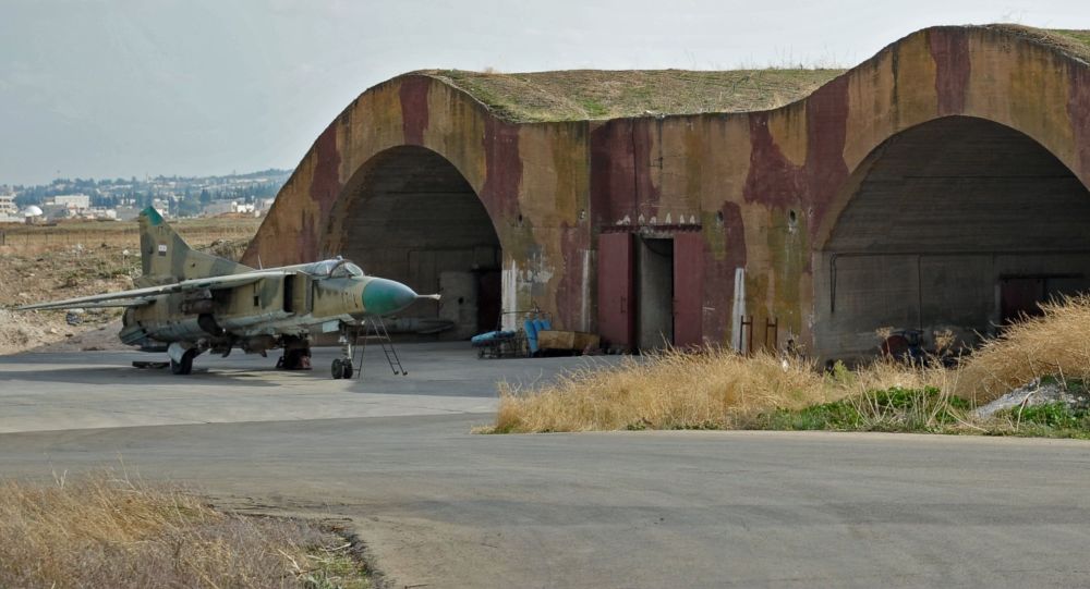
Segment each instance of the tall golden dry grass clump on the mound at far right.
[[1043,316],[1008,327],[962,363],[959,396],[982,404],[1039,377],[1090,380],[1090,297],[1041,307]]

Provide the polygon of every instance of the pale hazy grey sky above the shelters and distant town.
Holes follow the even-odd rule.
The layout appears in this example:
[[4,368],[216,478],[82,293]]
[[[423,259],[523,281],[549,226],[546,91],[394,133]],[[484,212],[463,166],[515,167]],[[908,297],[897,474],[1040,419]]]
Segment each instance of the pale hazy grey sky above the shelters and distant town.
[[853,65],[934,24],[1088,0],[0,0],[0,184],[294,168],[367,87],[501,72]]

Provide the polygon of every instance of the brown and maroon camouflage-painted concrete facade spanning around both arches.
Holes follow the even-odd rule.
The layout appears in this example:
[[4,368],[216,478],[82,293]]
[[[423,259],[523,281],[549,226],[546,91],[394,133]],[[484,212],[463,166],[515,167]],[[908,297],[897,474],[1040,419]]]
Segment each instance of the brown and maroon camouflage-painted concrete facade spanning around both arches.
[[[501,74],[500,74],[501,75]],[[322,134],[281,191],[245,260],[337,253],[339,211],[368,161],[420,145],[479,195],[504,249],[507,310],[540,305],[564,328],[594,330],[597,235],[698,225],[706,243],[702,333],[726,343],[735,271],[756,326],[783,343],[811,336],[812,260],[898,133],[950,115],[1037,140],[1090,182],[1090,68],[1013,27],[934,27],[900,39],[785,107],[752,113],[514,123],[426,73],[362,94]]]

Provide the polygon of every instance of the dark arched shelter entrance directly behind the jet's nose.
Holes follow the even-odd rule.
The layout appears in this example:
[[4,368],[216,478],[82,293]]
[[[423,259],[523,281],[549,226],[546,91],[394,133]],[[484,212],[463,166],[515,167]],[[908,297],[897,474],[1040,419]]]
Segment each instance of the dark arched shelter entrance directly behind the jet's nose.
[[377,154],[346,184],[331,217],[332,243],[368,274],[443,295],[438,305],[421,300],[403,311],[398,329],[464,339],[495,328],[499,237],[473,187],[446,158],[417,146]]

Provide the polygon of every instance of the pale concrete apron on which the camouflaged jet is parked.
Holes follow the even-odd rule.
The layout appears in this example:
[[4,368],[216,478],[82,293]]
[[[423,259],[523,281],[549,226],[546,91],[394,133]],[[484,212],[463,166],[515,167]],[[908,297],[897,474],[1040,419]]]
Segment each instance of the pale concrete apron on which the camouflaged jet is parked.
[[194,372],[140,370],[128,352],[0,356],[0,433],[53,429],[235,424],[407,415],[480,414],[496,408],[496,383],[532,383],[566,368],[616,357],[477,360],[464,342],[398,346],[408,376],[377,347],[363,376],[332,380],[334,348],[315,348],[314,370],[275,370],[275,358],[197,357]]

